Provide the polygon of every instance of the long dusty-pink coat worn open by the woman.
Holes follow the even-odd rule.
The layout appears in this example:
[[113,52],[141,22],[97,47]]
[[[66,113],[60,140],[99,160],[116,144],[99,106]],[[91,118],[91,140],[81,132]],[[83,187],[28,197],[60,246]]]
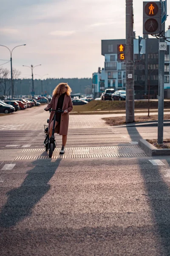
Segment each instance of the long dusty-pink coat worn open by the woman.
[[[57,102],[58,102],[59,96],[52,96],[51,102],[47,105],[48,108],[56,109],[57,108]],[[69,122],[69,112],[71,112],[73,109],[73,103],[71,100],[71,96],[68,96],[65,94],[64,101],[62,105],[62,110],[68,110],[68,113],[61,114],[61,122],[58,124],[55,128],[55,132],[59,135],[67,135],[68,134],[68,122]],[[48,125],[48,131],[50,128],[51,121],[54,117],[54,111],[51,111],[50,119],[49,119],[49,125]]]

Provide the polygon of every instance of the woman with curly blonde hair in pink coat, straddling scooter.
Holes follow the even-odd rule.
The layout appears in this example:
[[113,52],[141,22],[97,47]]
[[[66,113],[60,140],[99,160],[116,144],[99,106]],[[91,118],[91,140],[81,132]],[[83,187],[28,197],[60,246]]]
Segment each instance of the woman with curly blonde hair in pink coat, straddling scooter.
[[[68,134],[69,112],[71,112],[73,109],[73,103],[70,96],[71,91],[72,90],[67,83],[58,84],[53,91],[51,102],[45,108],[45,110],[48,110],[48,108],[60,108],[64,111],[64,113],[56,114],[55,132],[57,132],[59,135],[62,135],[62,148],[59,154],[65,153],[65,144],[67,142]],[[49,138],[52,135],[53,123],[54,111],[51,111],[48,125]]]

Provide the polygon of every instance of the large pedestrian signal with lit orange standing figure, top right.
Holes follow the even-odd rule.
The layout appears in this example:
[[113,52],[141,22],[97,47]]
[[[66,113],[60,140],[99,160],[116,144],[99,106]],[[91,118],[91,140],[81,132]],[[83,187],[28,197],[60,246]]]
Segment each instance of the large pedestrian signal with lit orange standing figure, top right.
[[160,2],[143,2],[143,34],[160,33]]

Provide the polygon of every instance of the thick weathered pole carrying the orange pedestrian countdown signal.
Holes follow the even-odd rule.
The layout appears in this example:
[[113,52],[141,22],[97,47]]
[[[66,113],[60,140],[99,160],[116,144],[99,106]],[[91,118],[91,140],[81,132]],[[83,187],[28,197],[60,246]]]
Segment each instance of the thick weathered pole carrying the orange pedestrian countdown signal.
[[126,123],[134,122],[133,0],[126,0]]

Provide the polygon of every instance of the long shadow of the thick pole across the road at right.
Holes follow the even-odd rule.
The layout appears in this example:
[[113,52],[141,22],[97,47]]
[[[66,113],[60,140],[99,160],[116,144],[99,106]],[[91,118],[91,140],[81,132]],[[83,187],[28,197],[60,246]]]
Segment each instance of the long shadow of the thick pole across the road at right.
[[[138,140],[142,139],[136,127],[127,127],[127,131],[132,141],[134,137]],[[153,157],[150,157],[153,159]],[[158,158],[157,158],[158,159]],[[149,200],[151,214],[155,228],[153,230],[156,235],[156,245],[159,244],[158,255],[170,255],[170,188],[161,177],[161,167],[153,166],[146,171],[142,166],[142,161],[138,161],[140,172],[144,180],[144,186],[147,194],[144,195]],[[151,181],[148,177],[151,177]]]

